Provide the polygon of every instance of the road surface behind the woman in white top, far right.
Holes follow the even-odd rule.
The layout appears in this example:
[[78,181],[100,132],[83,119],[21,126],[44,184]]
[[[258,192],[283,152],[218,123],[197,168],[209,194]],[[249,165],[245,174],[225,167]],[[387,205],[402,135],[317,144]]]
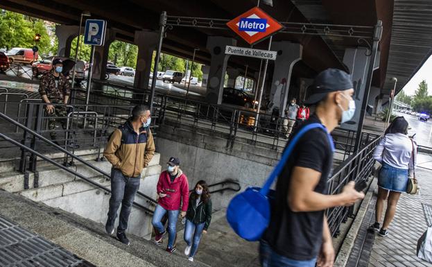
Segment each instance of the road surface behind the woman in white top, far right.
[[403,114],[399,112],[395,112],[397,116],[403,116],[406,121],[408,121],[409,126],[411,127],[408,130],[408,135],[415,134],[415,141],[420,146],[429,146],[432,147],[432,121],[419,121],[418,117],[413,115]]

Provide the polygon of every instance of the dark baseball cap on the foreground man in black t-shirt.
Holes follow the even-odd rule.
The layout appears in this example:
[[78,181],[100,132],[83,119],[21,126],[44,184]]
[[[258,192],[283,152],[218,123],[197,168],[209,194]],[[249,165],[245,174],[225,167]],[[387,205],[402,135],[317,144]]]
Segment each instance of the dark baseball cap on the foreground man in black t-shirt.
[[310,96],[304,101],[304,104],[313,105],[322,101],[322,99],[331,92],[344,91],[352,88],[351,76],[345,71],[340,69],[326,69],[316,76],[313,85],[309,87],[308,91],[310,92]]

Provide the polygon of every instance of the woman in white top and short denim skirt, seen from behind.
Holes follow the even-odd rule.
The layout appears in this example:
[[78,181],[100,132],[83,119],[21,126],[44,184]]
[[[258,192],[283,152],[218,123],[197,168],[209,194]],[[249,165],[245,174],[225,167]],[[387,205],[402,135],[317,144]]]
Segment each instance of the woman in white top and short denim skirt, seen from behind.
[[[417,144],[408,137],[408,121],[396,117],[386,130],[386,135],[374,150],[374,159],[382,164],[378,175],[378,198],[375,206],[375,223],[369,229],[379,236],[388,236],[388,226],[395,216],[397,201],[406,192],[408,177],[413,176],[416,164]],[[384,201],[386,216],[380,229]]]

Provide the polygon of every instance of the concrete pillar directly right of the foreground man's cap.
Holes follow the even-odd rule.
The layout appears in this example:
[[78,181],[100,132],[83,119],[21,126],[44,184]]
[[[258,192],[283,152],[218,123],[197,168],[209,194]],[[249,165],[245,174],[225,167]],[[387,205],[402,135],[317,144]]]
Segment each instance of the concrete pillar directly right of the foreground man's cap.
[[[345,49],[343,63],[348,67],[354,85],[354,101],[356,101],[356,112],[351,121],[343,123],[340,127],[346,130],[357,130],[357,123],[360,119],[363,94],[365,93],[365,83],[368,75],[370,55],[365,47]],[[379,61],[375,62],[374,69],[379,66]],[[371,96],[370,96],[371,97]],[[369,98],[370,98],[369,97]]]

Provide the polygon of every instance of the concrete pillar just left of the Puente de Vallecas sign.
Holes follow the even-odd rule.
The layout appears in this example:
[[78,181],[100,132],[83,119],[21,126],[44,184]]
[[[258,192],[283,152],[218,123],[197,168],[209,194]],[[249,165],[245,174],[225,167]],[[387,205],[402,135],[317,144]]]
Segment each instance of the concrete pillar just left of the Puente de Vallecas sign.
[[221,105],[223,95],[223,82],[230,55],[225,55],[225,46],[235,46],[237,41],[229,37],[207,37],[207,49],[211,54],[211,64],[207,83],[207,101]]

